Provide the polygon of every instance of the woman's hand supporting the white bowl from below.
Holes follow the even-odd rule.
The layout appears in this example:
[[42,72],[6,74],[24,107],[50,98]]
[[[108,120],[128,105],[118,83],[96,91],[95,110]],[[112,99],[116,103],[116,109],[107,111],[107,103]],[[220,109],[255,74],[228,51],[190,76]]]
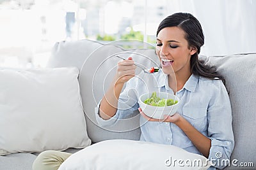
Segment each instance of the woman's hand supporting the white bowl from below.
[[180,120],[180,118],[182,117],[179,113],[175,113],[172,116],[169,115],[164,115],[163,119],[157,119],[157,118],[151,118],[148,117],[147,115],[145,115],[145,113],[143,113],[143,111],[141,110],[141,108],[138,108],[138,110],[140,111],[140,114],[148,121],[151,122],[171,122],[171,123],[176,123]]

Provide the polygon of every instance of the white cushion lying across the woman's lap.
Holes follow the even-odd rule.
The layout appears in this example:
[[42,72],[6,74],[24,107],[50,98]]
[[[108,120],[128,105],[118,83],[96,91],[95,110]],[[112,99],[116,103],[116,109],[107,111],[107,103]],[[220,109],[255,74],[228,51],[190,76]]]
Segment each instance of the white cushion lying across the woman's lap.
[[202,155],[189,153],[177,146],[114,139],[74,153],[59,170],[207,169],[209,166],[211,162]]

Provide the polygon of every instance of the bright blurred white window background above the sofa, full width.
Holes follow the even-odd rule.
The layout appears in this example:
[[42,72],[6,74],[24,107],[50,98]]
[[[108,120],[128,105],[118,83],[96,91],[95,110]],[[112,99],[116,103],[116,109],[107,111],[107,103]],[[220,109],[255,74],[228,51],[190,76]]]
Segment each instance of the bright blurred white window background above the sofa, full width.
[[44,67],[63,40],[155,43],[159,22],[177,11],[200,20],[202,54],[256,52],[255,9],[252,0],[0,0],[0,66]]

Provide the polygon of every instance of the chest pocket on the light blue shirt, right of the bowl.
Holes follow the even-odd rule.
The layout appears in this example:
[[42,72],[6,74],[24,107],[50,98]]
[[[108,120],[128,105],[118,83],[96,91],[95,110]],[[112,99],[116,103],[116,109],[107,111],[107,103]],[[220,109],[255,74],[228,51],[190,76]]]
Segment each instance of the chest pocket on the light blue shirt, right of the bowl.
[[183,108],[183,116],[198,131],[207,130],[207,109],[206,108]]

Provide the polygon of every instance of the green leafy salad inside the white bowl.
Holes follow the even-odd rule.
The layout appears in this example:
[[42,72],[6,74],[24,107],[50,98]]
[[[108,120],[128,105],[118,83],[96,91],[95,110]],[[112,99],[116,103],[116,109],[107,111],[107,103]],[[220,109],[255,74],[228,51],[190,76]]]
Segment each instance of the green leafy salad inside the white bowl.
[[144,103],[151,106],[172,106],[178,103],[178,101],[174,101],[173,99],[160,99],[160,97],[156,96],[156,92],[153,92],[152,96],[146,99]]

